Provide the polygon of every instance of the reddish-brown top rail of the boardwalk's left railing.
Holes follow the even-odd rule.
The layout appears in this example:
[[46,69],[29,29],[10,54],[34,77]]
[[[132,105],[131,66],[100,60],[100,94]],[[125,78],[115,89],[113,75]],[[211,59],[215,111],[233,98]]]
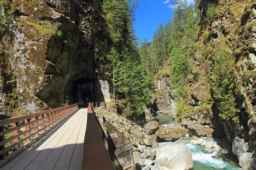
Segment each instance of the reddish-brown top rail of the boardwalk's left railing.
[[12,117],[12,118],[8,118],[8,119],[3,119],[3,120],[0,120],[0,126],[4,126],[4,125],[8,125],[8,124],[15,123],[18,121],[22,121],[24,119],[30,119],[30,118],[37,117],[37,116],[47,114],[49,112],[57,111],[60,109],[73,107],[75,105],[78,105],[78,104],[71,104],[71,105],[66,105],[63,107],[55,108],[55,109],[49,109],[49,110],[45,110],[45,111],[36,112],[34,114],[28,114],[28,115],[22,115],[22,116]]

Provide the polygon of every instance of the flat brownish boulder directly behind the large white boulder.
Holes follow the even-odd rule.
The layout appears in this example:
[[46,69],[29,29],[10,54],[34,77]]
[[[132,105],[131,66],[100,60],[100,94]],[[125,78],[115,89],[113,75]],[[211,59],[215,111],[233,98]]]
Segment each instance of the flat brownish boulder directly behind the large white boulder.
[[156,136],[164,140],[176,140],[185,136],[188,130],[181,127],[164,127],[156,132]]

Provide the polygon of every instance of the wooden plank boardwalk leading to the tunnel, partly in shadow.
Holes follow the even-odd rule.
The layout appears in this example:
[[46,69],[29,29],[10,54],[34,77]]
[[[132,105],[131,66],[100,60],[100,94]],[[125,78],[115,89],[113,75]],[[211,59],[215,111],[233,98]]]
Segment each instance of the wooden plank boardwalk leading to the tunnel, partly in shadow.
[[81,169],[87,109],[79,109],[2,169]]

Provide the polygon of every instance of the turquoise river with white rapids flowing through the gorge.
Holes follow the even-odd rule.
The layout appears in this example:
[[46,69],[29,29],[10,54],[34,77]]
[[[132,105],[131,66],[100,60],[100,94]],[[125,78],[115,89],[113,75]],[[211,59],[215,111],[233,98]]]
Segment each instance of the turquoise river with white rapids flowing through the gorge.
[[[173,118],[171,115],[157,115],[153,117],[161,125],[173,126]],[[192,137],[183,137],[181,140],[187,147],[190,148],[193,158],[193,169],[196,170],[211,170],[211,169],[239,169],[240,166],[232,160],[223,160],[217,152],[211,154],[203,153],[204,145],[192,145],[190,141]]]

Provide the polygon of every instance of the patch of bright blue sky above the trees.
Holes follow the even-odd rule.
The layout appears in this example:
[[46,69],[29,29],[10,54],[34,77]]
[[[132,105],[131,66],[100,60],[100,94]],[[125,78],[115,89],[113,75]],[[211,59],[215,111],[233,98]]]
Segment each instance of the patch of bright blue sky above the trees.
[[[147,38],[150,42],[159,24],[165,25],[173,17],[173,2],[174,0],[139,0],[133,23],[135,35],[141,40]],[[193,0],[187,2],[194,4]]]

